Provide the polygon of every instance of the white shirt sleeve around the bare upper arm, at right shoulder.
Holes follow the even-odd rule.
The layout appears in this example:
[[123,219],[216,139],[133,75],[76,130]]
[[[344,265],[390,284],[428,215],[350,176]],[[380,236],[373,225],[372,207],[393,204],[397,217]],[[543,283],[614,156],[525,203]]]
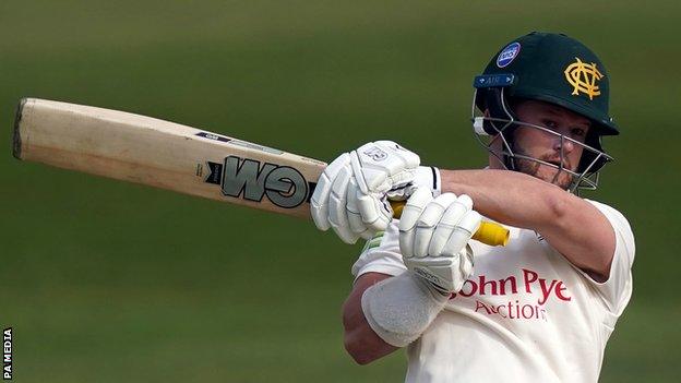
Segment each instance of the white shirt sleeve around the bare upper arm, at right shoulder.
[[614,230],[616,247],[612,264],[610,266],[610,276],[604,283],[592,279],[586,273],[580,270],[587,280],[599,291],[609,306],[610,311],[616,315],[620,315],[624,311],[624,307],[629,302],[632,295],[632,273],[631,268],[634,263],[634,254],[636,252],[634,243],[634,234],[632,232],[629,222],[622,213],[600,202],[586,200],[598,208],[610,222]]

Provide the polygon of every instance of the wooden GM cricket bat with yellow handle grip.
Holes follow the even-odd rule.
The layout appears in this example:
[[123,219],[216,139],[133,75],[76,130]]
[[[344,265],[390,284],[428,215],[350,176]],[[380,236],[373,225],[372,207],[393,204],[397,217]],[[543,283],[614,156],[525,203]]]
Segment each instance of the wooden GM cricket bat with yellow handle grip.
[[[310,198],[326,163],[135,113],[24,98],[14,121],[14,157],[310,219]],[[402,203],[394,204],[396,215]],[[476,236],[505,244],[507,230],[483,223]]]

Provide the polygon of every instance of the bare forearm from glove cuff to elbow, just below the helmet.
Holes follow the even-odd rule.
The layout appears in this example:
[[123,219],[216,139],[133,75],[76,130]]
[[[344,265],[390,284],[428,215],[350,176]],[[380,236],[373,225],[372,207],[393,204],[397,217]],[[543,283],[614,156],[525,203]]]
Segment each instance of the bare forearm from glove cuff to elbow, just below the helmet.
[[502,224],[540,230],[560,215],[560,188],[509,170],[441,170],[442,191],[468,194],[474,208]]

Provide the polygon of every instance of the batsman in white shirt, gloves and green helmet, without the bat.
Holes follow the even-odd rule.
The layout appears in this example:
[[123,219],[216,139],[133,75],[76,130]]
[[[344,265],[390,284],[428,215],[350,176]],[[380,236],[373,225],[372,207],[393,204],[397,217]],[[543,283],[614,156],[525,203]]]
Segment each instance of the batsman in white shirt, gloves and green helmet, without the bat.
[[[530,33],[474,80],[486,168],[423,167],[379,141],[325,169],[315,225],[368,240],[343,306],[358,363],[406,347],[406,382],[598,380],[635,252],[620,212],[578,196],[611,160],[601,137],[619,134],[609,82],[582,43]],[[408,199],[399,219],[389,199]],[[470,239],[481,217],[510,229],[506,247]]]

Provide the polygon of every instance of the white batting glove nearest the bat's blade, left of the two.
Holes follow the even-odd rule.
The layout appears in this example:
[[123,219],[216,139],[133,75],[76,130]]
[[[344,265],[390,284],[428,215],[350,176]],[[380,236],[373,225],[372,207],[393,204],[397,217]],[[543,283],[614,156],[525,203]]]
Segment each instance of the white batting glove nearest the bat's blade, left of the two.
[[333,228],[347,243],[385,230],[393,218],[387,198],[406,200],[419,163],[417,154],[392,141],[344,153],[324,169],[312,194],[314,225]]

